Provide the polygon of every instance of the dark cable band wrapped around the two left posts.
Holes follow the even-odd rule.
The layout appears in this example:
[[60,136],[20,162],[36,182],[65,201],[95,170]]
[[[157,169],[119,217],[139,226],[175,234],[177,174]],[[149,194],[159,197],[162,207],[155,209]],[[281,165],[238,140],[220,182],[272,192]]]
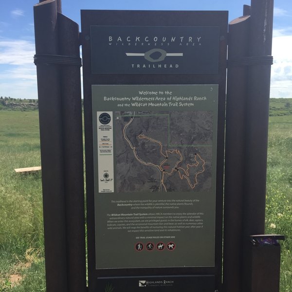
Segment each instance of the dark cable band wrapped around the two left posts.
[[34,63],[37,64],[56,64],[67,66],[82,66],[80,57],[63,56],[63,55],[34,55]]

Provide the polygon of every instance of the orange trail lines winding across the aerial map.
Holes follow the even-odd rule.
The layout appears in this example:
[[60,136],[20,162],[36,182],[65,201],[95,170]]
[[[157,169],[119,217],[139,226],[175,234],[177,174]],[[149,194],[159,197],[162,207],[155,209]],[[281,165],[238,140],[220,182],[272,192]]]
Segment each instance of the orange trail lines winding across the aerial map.
[[[156,168],[161,172],[161,177],[162,177],[162,178],[161,178],[161,182],[160,182],[160,183],[161,183],[161,185],[163,185],[165,192],[166,192],[167,190],[166,190],[166,187],[165,187],[165,185],[164,185],[164,174],[170,176],[170,175],[172,175],[173,172],[175,172],[176,170],[178,171],[178,173],[179,173],[179,175],[180,175],[180,179],[181,179],[181,180],[186,179],[187,182],[188,182],[188,184],[190,185],[190,187],[191,187],[192,189],[194,189],[195,186],[198,184],[198,181],[197,181],[197,176],[198,176],[198,174],[200,174],[200,173],[202,173],[202,172],[205,171],[205,168],[204,168],[205,161],[201,158],[201,156],[200,156],[199,154],[196,154],[196,155],[195,155],[196,163],[195,163],[195,164],[186,164],[187,169],[185,170],[183,167],[177,167],[178,164],[180,164],[180,163],[183,161],[183,156],[182,156],[182,153],[181,153],[180,150],[178,150],[178,149],[175,149],[175,150],[165,150],[165,154],[164,154],[164,152],[163,152],[163,145],[162,145],[162,143],[161,143],[160,141],[157,141],[157,140],[155,140],[155,139],[153,139],[153,138],[150,138],[150,137],[147,137],[147,136],[145,136],[145,135],[143,135],[143,134],[140,134],[140,135],[138,135],[138,138],[139,138],[139,139],[147,139],[147,140],[149,140],[149,141],[151,141],[151,142],[154,142],[154,143],[159,144],[159,146],[160,146],[160,153],[165,157],[164,161],[163,161],[160,165],[156,165],[156,164],[152,164],[152,163],[146,163],[145,161],[141,160],[141,159],[137,156],[137,154],[136,154],[136,147],[133,147],[132,143],[130,142],[130,140],[128,139],[128,137],[127,137],[127,135],[126,135],[126,130],[127,130],[128,126],[132,123],[133,120],[134,120],[134,118],[132,117],[132,118],[130,119],[130,121],[128,122],[128,124],[124,127],[124,129],[123,129],[123,133],[124,133],[124,138],[125,138],[125,140],[128,142],[129,146],[131,147],[131,149],[132,149],[132,151],[133,151],[133,154],[134,154],[134,157],[138,160],[138,162],[141,163],[141,164],[144,164],[144,165],[151,165],[151,166],[154,166],[154,167],[156,167]],[[180,158],[180,161],[178,161],[178,162],[175,164],[175,167],[172,168],[171,172],[165,172],[165,170],[164,170],[163,167],[162,167],[162,165],[167,161],[167,158],[168,158],[167,153],[170,153],[170,154],[176,153],[176,154],[179,154],[180,157],[181,157],[181,158]],[[190,180],[190,178],[189,178],[189,176],[190,176],[190,174],[189,174],[189,168],[190,168],[190,167],[194,167],[194,166],[197,167],[197,166],[200,164],[200,162],[197,160],[197,157],[199,157],[200,160],[201,160],[201,162],[202,162],[202,170],[199,171],[199,172],[197,172],[197,173],[195,174],[194,184],[192,184],[192,182],[191,182],[191,180]],[[182,171],[184,172],[184,174],[181,174],[179,170],[182,170]]]

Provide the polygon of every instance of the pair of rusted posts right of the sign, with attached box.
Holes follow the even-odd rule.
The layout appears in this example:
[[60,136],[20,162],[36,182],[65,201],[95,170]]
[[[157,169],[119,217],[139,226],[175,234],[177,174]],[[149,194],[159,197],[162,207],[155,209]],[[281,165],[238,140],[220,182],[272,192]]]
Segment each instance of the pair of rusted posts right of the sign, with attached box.
[[279,291],[283,237],[264,235],[273,8],[252,0],[229,24],[224,292]]

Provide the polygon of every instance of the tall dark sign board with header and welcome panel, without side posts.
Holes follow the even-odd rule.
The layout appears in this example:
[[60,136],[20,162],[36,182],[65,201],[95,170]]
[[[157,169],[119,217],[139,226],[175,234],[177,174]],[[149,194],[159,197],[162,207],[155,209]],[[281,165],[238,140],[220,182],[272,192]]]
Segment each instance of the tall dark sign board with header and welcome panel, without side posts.
[[100,291],[216,290],[227,18],[81,11],[89,264]]

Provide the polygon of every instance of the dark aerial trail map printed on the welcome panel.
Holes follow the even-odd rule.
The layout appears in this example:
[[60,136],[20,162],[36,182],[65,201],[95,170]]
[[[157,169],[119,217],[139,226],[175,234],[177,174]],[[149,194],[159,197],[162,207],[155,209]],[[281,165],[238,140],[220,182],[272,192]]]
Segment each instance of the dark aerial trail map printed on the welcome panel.
[[212,111],[116,111],[116,192],[211,188]]

